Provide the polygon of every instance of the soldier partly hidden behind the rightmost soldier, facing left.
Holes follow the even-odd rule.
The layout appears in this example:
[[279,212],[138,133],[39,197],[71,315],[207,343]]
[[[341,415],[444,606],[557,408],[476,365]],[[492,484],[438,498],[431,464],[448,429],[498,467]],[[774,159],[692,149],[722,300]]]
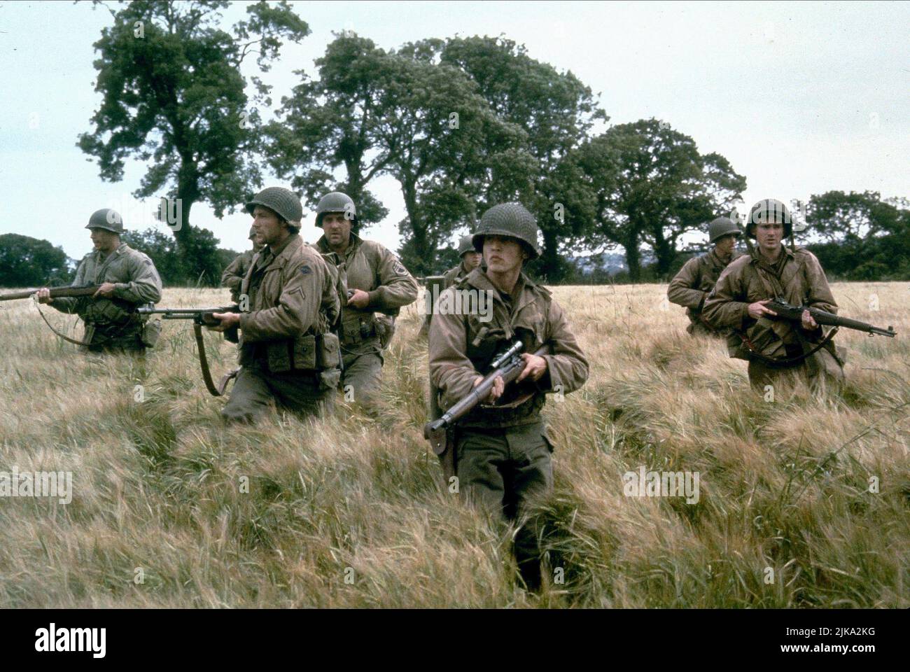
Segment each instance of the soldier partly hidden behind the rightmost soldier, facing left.
[[667,298],[683,306],[689,316],[686,327],[693,336],[725,337],[730,330],[716,331],[705,323],[702,307],[708,294],[714,289],[714,283],[721,276],[721,271],[738,256],[735,253],[736,239],[740,235],[739,227],[732,219],[718,217],[708,226],[708,239],[714,249],[700,257],[688,260],[680,272],[670,280]]

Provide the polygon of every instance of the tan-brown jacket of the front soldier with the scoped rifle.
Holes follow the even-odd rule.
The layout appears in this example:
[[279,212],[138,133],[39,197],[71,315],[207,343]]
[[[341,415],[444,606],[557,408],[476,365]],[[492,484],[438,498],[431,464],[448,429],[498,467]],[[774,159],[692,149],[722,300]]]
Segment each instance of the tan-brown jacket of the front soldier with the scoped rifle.
[[[461,292],[461,307],[473,290],[479,310],[449,310],[457,307],[456,294]],[[492,311],[480,303],[480,293],[492,300]],[[486,300],[486,299],[485,299]],[[447,306],[448,304],[448,306]],[[474,388],[479,375],[494,357],[516,339],[523,352],[536,351],[549,344],[550,353],[542,355],[547,371],[537,382],[525,379],[512,384],[496,406],[481,405],[470,412],[461,426],[503,427],[536,423],[545,401],[545,392],[568,393],[578,390],[588,379],[588,361],[569,328],[561,306],[552,300],[551,292],[523,273],[504,297],[480,269],[474,269],[458,284],[440,294],[440,310],[430,322],[430,380],[440,391],[440,407],[448,409]],[[490,320],[487,320],[490,317]],[[531,393],[528,401],[521,400]]]

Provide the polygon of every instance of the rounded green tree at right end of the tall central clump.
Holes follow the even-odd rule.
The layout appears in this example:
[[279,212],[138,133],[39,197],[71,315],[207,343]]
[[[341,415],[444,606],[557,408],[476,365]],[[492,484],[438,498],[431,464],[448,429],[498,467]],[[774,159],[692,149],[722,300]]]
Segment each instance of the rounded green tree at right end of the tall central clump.
[[589,245],[622,246],[633,282],[641,278],[642,244],[665,277],[682,234],[730,212],[745,190],[726,158],[699,154],[692,137],[653,118],[607,129],[576,160],[595,202]]

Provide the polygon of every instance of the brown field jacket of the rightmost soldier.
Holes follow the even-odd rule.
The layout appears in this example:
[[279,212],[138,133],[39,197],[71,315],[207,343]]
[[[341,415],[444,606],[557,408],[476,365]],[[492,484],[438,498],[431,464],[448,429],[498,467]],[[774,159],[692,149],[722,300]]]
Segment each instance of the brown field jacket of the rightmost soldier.
[[[819,342],[821,330],[804,331],[793,321],[749,317],[749,304],[784,297],[793,305],[806,305],[823,311],[837,312],[837,303],[824,270],[808,249],[795,251],[781,246],[781,256],[769,264],[758,249],[733,260],[718,278],[704,301],[704,318],[715,328],[729,327],[733,334],[727,340],[730,356],[748,360],[750,352],[745,338],[755,351],[766,357],[785,359],[802,353],[800,337]],[[797,333],[796,330],[800,330]],[[825,345],[834,354],[834,343]]]

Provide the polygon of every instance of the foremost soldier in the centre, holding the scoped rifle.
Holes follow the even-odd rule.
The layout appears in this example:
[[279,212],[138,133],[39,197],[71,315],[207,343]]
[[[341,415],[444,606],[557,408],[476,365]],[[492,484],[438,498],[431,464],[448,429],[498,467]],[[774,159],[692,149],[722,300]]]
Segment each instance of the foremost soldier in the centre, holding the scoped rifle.
[[[537,232],[520,203],[487,210],[473,236],[486,270],[472,270],[443,292],[440,302],[453,303],[458,291],[485,292],[493,301],[492,315],[440,311],[430,322],[430,380],[444,409],[470,393],[506,344],[515,339],[524,344],[521,376],[505,393],[497,379],[485,404],[458,423],[454,437],[460,491],[507,519],[521,516],[531,494],[552,486],[552,444],[541,420],[544,394],[572,392],[588,378],[588,362],[561,306],[521,272],[524,260],[540,255]],[[449,293],[452,297],[442,298]],[[541,345],[549,345],[550,353],[532,354]],[[525,526],[516,536],[515,555],[525,584],[536,590],[539,552]]]

